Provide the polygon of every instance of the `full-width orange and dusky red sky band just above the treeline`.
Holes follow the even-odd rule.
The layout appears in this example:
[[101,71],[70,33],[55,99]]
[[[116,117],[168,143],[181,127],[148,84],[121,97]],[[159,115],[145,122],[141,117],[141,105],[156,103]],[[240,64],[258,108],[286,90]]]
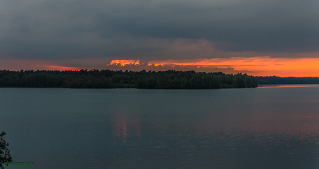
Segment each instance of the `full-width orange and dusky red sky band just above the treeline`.
[[[126,70],[124,65],[141,66],[139,60],[113,60],[90,59],[91,67],[85,67],[87,60],[74,60],[72,66],[69,63],[51,61],[28,61],[28,60],[0,60],[0,70],[80,70],[80,69],[112,69],[120,63],[121,69]],[[78,63],[78,64],[77,64]],[[103,63],[103,64],[101,64]],[[74,67],[74,65],[79,65]],[[96,65],[96,66],[94,66]],[[97,66],[100,65],[100,66]],[[232,57],[216,59],[189,59],[189,60],[164,60],[149,61],[148,66],[167,66],[175,69],[175,66],[189,66],[189,68],[233,68],[237,72],[247,72],[253,76],[279,76],[279,77],[319,77],[319,58],[272,58],[272,57]],[[170,67],[171,66],[171,67]],[[192,67],[193,66],[193,67]],[[152,67],[149,67],[152,68]],[[154,67],[153,67],[154,68]],[[213,70],[213,69],[212,69]],[[208,71],[212,72],[212,71]],[[216,72],[216,71],[213,71]]]

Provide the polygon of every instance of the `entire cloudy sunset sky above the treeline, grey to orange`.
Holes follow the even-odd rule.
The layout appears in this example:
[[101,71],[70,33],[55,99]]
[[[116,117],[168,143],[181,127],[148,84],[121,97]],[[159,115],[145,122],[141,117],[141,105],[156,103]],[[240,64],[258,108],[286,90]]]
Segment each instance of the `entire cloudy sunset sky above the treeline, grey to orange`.
[[0,70],[319,77],[318,0],[0,0]]

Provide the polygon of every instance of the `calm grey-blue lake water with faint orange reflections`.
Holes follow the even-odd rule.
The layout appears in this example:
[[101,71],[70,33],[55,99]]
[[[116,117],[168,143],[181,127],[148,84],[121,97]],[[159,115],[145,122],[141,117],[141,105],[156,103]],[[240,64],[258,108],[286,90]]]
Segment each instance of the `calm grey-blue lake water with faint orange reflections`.
[[0,88],[6,168],[319,168],[319,86]]

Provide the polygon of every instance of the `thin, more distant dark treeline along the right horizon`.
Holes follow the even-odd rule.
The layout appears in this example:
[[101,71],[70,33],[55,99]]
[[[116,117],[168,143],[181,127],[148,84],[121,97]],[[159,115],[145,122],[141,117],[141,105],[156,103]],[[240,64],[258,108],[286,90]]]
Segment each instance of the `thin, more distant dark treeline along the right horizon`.
[[319,77],[255,77],[257,84],[319,84]]

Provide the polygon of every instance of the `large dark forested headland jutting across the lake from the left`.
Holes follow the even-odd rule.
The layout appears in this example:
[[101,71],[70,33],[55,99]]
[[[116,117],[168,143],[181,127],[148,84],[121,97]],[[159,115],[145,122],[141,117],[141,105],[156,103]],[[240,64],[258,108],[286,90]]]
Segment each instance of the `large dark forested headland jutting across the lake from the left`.
[[0,87],[208,89],[255,88],[257,83],[247,74],[223,72],[0,70]]

